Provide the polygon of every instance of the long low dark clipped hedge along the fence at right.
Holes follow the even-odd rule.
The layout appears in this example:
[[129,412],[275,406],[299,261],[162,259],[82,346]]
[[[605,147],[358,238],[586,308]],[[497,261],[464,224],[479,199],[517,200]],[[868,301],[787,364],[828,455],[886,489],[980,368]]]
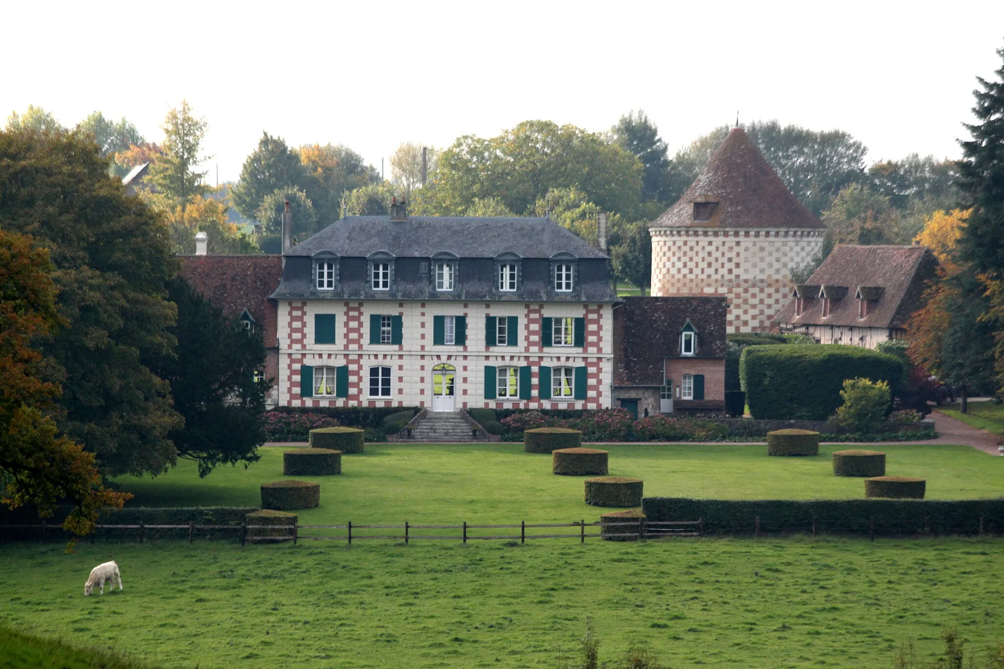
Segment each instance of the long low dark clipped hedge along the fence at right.
[[[751,535],[757,517],[760,532],[867,535],[874,520],[877,535],[977,535],[983,517],[986,532],[1004,533],[1004,498],[994,499],[692,499],[645,497],[650,521],[704,521],[704,531]],[[925,521],[926,520],[926,521]]]

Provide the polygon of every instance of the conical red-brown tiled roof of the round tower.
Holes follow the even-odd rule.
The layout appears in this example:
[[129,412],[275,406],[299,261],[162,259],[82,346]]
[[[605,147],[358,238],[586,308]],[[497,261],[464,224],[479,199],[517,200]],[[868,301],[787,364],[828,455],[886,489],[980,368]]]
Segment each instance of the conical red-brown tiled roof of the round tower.
[[[695,203],[717,205],[698,208],[700,211],[696,212]],[[825,227],[791,194],[739,127],[729,132],[679,202],[652,225],[667,228]]]

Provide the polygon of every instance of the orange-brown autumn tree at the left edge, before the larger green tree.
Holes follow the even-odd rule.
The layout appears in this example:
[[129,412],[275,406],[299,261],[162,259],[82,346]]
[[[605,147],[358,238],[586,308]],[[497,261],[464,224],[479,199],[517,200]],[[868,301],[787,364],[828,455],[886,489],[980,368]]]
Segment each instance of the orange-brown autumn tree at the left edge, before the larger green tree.
[[62,323],[49,255],[32,238],[0,230],[0,481],[10,509],[34,505],[51,516],[63,498],[75,509],[63,527],[93,532],[104,507],[121,508],[132,496],[106,490],[94,455],[59,433],[52,412],[61,393],[44,378],[44,360],[33,344]]

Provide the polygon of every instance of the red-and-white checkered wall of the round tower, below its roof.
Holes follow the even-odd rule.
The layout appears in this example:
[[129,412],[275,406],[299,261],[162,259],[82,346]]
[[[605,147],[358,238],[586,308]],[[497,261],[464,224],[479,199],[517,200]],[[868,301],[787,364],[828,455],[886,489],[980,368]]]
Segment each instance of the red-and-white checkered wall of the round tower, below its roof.
[[728,332],[770,329],[791,295],[790,270],[822,248],[823,231],[650,228],[652,294],[724,295]]

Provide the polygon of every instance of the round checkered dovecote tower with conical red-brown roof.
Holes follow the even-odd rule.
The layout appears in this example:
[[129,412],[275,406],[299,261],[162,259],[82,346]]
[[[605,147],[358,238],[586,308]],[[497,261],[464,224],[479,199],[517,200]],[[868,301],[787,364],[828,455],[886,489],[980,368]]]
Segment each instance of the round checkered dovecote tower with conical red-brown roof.
[[650,226],[652,294],[726,296],[727,332],[769,330],[824,232],[737,127]]

